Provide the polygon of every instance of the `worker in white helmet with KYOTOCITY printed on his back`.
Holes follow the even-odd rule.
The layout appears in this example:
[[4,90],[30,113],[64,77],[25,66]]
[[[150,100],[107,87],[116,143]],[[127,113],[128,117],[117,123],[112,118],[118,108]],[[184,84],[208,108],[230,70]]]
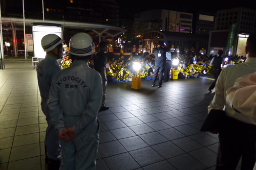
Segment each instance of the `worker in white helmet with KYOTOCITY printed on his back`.
[[55,76],[48,103],[51,121],[60,138],[60,169],[95,169],[102,78],[99,72],[88,67],[94,51],[90,35],[75,34],[69,47],[73,63]]

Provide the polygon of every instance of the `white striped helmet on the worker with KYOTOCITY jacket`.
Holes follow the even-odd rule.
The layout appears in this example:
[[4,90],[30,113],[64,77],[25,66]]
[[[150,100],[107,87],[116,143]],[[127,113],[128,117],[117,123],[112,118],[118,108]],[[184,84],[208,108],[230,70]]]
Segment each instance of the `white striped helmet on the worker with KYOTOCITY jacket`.
[[69,41],[69,54],[89,56],[94,51],[93,39],[86,33],[76,33]]

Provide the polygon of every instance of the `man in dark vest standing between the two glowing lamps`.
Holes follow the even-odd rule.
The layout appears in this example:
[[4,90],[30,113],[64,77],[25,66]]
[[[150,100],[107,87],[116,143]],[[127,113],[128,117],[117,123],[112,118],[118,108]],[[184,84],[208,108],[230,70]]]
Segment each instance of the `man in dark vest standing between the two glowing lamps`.
[[152,80],[152,87],[156,86],[157,76],[159,72],[158,88],[162,87],[163,72],[166,65],[166,52],[163,48],[163,41],[158,42],[158,47],[155,50],[155,72]]

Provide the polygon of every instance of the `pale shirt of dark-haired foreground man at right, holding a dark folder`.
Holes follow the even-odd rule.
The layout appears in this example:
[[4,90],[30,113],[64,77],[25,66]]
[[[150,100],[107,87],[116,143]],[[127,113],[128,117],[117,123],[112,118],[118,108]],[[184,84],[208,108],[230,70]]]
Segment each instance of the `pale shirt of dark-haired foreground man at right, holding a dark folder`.
[[226,102],[226,91],[229,87],[234,85],[234,82],[245,75],[251,74],[256,71],[256,58],[247,58],[245,63],[228,65],[221,71],[219,78],[215,85],[215,96],[208,106],[208,112],[211,109],[223,110],[225,106],[225,112],[227,116],[236,118],[241,122],[255,124],[256,119],[247,115],[238,113],[230,107]]

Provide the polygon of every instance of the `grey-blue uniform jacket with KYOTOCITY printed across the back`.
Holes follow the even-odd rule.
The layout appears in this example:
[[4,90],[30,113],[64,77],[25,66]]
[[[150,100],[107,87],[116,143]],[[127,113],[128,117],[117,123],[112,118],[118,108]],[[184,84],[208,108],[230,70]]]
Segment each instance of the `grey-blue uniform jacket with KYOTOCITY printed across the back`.
[[79,117],[73,126],[81,132],[96,120],[102,99],[102,78],[85,61],[75,60],[54,77],[48,107],[57,132],[67,129],[65,117]]

